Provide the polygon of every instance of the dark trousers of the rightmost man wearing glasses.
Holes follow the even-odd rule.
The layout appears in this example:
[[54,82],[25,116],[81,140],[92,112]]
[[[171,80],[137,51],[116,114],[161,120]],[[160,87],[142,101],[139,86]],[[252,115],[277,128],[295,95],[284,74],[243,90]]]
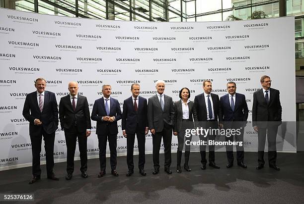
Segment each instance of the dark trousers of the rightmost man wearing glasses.
[[269,165],[276,165],[277,160],[277,133],[278,126],[268,125],[266,128],[258,127],[258,164],[264,165],[264,150],[266,135],[268,141],[268,163]]

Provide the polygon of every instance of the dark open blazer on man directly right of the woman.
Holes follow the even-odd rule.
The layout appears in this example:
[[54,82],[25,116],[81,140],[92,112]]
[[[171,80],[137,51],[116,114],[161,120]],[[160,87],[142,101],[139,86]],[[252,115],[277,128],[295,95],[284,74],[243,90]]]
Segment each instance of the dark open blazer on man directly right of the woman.
[[[211,93],[212,103],[213,103],[213,111],[215,121],[221,121],[221,117],[218,118],[218,115],[221,115],[221,107],[220,107],[220,98],[216,94]],[[195,96],[194,98],[194,112],[193,112],[194,121],[196,122],[196,126],[198,127],[198,122],[207,121],[207,106],[205,102],[204,93]]]

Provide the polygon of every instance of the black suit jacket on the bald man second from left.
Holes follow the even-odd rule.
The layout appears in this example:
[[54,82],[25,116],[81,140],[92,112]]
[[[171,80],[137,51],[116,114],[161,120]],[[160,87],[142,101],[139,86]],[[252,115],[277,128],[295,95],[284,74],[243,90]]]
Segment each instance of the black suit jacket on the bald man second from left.
[[78,132],[91,129],[90,111],[86,97],[77,95],[76,111],[73,110],[70,94],[62,97],[59,102],[59,119],[61,128],[65,130],[74,128],[75,122]]

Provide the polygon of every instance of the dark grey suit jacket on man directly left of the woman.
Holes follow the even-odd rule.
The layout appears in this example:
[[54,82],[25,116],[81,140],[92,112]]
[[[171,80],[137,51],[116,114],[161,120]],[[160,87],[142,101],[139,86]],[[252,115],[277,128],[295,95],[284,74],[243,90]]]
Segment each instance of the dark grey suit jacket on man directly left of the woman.
[[174,126],[174,105],[172,98],[164,95],[163,111],[160,106],[157,95],[152,96],[148,102],[148,124],[149,129],[155,129],[155,132],[161,132],[164,123]]

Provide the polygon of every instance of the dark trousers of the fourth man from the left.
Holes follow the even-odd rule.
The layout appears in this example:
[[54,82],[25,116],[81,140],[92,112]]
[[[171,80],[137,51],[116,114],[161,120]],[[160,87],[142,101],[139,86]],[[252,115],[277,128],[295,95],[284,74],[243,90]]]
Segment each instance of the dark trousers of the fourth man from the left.
[[145,167],[145,144],[146,144],[145,130],[143,132],[143,130],[140,130],[137,126],[136,133],[127,133],[127,164],[129,171],[134,170],[133,152],[134,152],[135,134],[137,137],[137,144],[139,151],[138,168],[144,169]]

